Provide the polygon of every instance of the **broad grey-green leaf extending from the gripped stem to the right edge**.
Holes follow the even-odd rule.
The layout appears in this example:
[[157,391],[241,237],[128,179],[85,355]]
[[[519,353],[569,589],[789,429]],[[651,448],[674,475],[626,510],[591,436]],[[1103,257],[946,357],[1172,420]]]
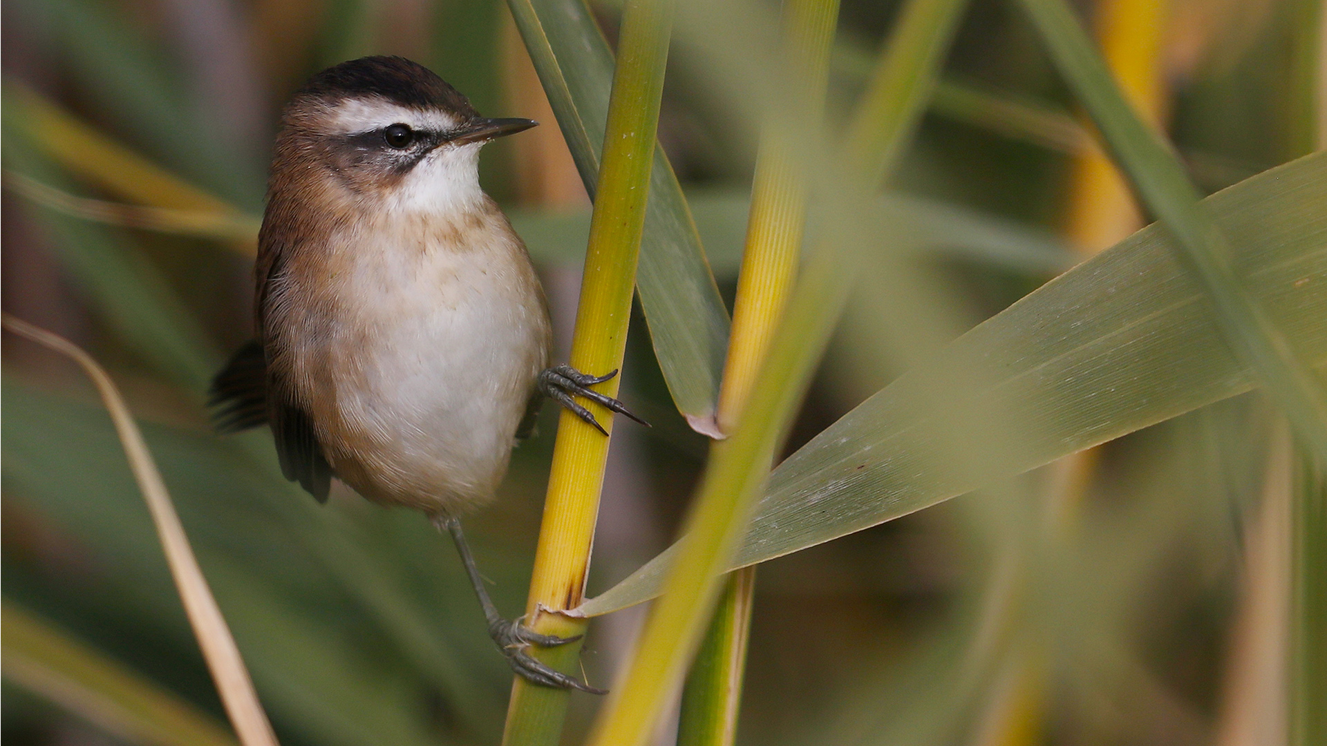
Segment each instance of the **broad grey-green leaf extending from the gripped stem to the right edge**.
[[[1327,362],[1327,153],[1204,200],[1245,291],[1303,360]],[[784,461],[733,567],[933,506],[1254,386],[1205,292],[1160,226],[1139,231],[978,325]],[[1022,431],[936,459],[943,422],[1018,411]],[[658,593],[677,547],[588,600],[596,616]]]

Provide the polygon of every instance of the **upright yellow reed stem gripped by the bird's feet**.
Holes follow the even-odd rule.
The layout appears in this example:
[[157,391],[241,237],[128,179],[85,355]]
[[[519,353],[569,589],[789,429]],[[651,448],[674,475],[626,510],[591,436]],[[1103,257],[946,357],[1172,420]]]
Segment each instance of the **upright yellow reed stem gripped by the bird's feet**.
[[[572,340],[571,364],[584,373],[598,376],[622,365],[671,24],[670,0],[630,0],[622,11],[604,159]],[[601,390],[617,396],[617,389],[618,378],[613,378]],[[613,414],[593,402],[588,406],[612,433]],[[563,411],[525,607],[529,627],[536,632],[563,637],[584,633],[585,620],[560,612],[579,605],[585,591],[608,445],[609,438],[598,430]],[[580,645],[572,644],[533,654],[567,670],[579,650]],[[557,743],[568,696],[518,677],[512,684],[504,743]]]

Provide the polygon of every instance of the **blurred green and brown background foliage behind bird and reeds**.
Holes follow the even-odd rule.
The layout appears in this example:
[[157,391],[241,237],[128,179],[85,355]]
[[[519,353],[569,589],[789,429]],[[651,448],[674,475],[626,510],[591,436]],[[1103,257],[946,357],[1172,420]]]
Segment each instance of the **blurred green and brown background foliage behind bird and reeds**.
[[[843,1],[831,110],[861,92],[897,5]],[[1079,8],[1205,191],[1312,149],[1314,3]],[[617,8],[593,9],[612,40]],[[450,546],[344,488],[314,504],[280,478],[265,431],[214,435],[203,400],[249,335],[280,105],[368,53],[426,64],[486,115],[545,122],[486,149],[482,181],[540,265],[565,357],[589,203],[506,5],[9,0],[4,21],[4,308],[84,345],[125,389],[283,742],[495,742],[510,674]],[[660,138],[731,299],[755,145],[706,74],[671,56]],[[916,261],[936,301],[966,325],[1143,224],[1026,15],[999,0],[970,4],[890,186],[924,228]],[[902,372],[874,287],[868,265],[787,453]],[[73,366],[4,345],[3,737],[224,742],[109,419]],[[640,319],[624,385],[656,427],[614,437],[592,592],[667,544],[707,447]],[[502,499],[471,519],[507,613],[528,581],[545,409]],[[1258,394],[1239,396],[767,563],[739,741],[1275,743],[1278,433]],[[638,619],[592,627],[591,681],[609,678]],[[572,737],[592,705],[577,704]]]

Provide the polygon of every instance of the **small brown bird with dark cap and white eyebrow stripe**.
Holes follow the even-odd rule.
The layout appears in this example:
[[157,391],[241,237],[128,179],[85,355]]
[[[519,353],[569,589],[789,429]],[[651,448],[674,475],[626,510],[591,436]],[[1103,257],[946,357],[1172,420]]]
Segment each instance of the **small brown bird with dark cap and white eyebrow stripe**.
[[520,236],[479,186],[479,150],[536,126],[484,118],[403,57],[314,74],[281,114],[255,263],[256,338],[211,386],[223,433],[268,425],[287,479],[333,477],[451,535],[511,668],[604,693],[529,654],[572,638],[499,615],[460,516],[490,502],[545,398],[638,422],[591,376],[549,365],[551,323]]

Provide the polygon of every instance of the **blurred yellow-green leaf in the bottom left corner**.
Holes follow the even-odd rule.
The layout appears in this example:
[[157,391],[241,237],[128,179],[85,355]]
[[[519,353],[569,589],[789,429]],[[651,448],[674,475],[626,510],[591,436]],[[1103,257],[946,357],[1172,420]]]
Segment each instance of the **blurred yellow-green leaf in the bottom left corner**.
[[4,676],[133,743],[235,746],[222,722],[17,604],[4,603]]

